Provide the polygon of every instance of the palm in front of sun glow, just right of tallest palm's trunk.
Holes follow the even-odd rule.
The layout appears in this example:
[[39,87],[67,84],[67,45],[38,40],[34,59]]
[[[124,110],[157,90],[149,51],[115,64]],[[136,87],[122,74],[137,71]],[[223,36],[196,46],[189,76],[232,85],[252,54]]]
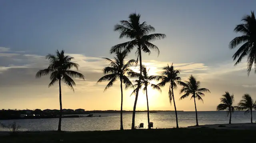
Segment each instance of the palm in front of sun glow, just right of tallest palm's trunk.
[[[152,84],[150,83],[150,81],[152,80],[159,80],[161,78],[161,76],[158,75],[148,75],[148,71],[150,69],[147,70],[146,66],[142,66],[142,76],[140,76],[140,73],[137,72],[129,72],[128,75],[130,75],[131,77],[137,77],[139,79],[142,79],[142,81],[139,80],[135,80],[136,84],[134,85],[136,88],[134,89],[134,91],[132,92],[132,94],[135,94],[138,89],[142,88],[142,86],[139,86],[140,83],[142,83],[142,85],[144,86],[143,91],[146,92],[146,98],[147,98],[147,107],[148,107],[148,86],[151,85],[151,87],[153,89],[157,89],[161,92],[161,89],[158,85]],[[150,120],[149,120],[149,107],[148,107],[148,129],[150,129]]]

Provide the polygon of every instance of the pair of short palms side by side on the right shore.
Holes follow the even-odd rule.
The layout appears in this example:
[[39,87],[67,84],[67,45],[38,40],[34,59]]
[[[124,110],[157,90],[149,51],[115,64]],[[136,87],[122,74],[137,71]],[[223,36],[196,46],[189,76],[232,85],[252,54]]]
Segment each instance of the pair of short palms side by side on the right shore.
[[238,103],[238,106],[233,106],[234,103],[234,95],[230,94],[229,92],[225,92],[224,95],[222,95],[222,98],[220,98],[221,103],[217,106],[218,111],[226,110],[229,117],[229,124],[231,124],[231,117],[232,113],[235,110],[246,110],[244,113],[250,113],[251,114],[251,123],[252,123],[252,110],[256,109],[256,102],[253,101],[252,97],[249,94],[244,94],[242,96],[242,99]]

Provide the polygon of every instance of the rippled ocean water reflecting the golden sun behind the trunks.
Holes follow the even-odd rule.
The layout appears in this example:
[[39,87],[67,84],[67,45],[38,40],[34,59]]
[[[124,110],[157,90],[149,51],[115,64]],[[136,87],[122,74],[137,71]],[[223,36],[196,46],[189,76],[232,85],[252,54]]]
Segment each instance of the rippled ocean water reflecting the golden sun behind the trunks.
[[[107,131],[120,129],[120,113],[94,113],[94,116],[102,117],[80,117],[80,118],[63,118],[63,131]],[[83,114],[86,116],[86,114]],[[255,116],[255,117],[254,117]],[[256,111],[253,111],[253,122],[256,120]],[[226,111],[199,111],[199,125],[206,124],[224,124],[228,123]],[[49,131],[58,129],[58,119],[15,119],[0,120],[1,123],[11,124],[16,122],[20,125],[22,131]],[[163,111],[150,113],[150,122],[153,122],[154,128],[173,128],[176,127],[175,112]],[[136,113],[135,125],[144,123],[147,128],[147,113]],[[179,127],[188,127],[196,125],[195,112],[178,112]],[[232,123],[250,123],[250,114],[243,111],[235,111],[232,113]],[[123,113],[123,127],[130,129],[132,124],[132,113]],[[0,127],[0,130],[6,130]]]

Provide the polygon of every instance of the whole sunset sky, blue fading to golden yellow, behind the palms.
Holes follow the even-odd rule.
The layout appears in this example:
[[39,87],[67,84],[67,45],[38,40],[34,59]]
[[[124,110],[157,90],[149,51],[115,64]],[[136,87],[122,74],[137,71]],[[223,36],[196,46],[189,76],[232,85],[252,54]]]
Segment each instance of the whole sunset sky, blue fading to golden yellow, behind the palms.
[[[104,91],[107,82],[96,81],[108,66],[102,57],[113,59],[110,48],[128,41],[118,38],[114,25],[134,12],[154,26],[155,33],[166,34],[164,40],[152,42],[159,56],[154,51],[142,54],[150,73],[160,74],[174,63],[182,81],[192,74],[211,91],[202,97],[204,103],[196,101],[198,111],[215,111],[225,91],[234,94],[235,104],[245,93],[256,99],[256,76],[247,75],[246,60],[234,66],[237,48],[228,48],[240,36],[233,32],[235,26],[255,5],[255,0],[0,0],[0,108],[59,109],[58,85],[48,88],[48,76],[35,78],[49,64],[44,57],[58,49],[74,57],[86,78],[75,80],[75,92],[62,84],[63,108],[120,110],[120,83]],[[162,93],[149,90],[150,110],[174,110],[167,86]],[[177,110],[194,111],[190,97],[179,100],[179,90],[174,91]],[[133,109],[131,92],[124,91],[124,110]],[[142,92],[136,109],[147,109]]]

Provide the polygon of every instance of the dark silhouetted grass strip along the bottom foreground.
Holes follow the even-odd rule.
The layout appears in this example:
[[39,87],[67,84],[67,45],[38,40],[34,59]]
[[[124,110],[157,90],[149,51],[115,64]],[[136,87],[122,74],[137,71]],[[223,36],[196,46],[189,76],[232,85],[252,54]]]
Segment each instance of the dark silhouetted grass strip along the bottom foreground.
[[151,129],[86,132],[23,132],[0,143],[252,143],[256,130]]

